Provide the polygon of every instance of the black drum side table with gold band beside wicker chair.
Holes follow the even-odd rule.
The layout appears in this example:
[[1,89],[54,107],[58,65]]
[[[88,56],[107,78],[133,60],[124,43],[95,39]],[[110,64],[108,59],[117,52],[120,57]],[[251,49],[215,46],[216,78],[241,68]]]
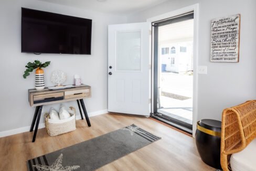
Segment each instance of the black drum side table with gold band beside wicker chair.
[[197,122],[196,146],[203,162],[216,169],[220,165],[221,122],[203,119]]

